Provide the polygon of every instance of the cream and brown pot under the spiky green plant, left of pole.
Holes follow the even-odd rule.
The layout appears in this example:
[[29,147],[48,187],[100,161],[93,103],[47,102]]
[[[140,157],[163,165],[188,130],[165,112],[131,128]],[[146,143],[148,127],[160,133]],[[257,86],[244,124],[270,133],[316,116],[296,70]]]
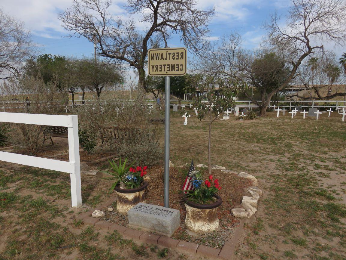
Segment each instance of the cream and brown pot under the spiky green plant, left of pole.
[[143,202],[146,203],[144,192],[147,188],[148,183],[143,182],[142,186],[135,189],[120,189],[119,185],[117,185],[114,190],[117,193],[118,201],[117,201],[117,210],[126,214],[131,208],[136,206],[138,203]]

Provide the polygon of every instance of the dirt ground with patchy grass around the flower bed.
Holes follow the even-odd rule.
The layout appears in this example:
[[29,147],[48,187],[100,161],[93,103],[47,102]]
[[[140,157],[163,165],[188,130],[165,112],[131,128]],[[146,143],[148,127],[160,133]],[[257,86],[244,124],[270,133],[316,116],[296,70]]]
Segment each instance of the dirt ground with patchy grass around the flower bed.
[[[171,113],[171,161],[207,164],[207,124],[193,116],[183,122]],[[346,259],[346,123],[340,115],[324,113],[318,121],[273,112],[255,120],[231,116],[215,121],[212,131],[212,163],[256,176],[263,189],[236,259]],[[65,141],[56,153],[66,151]],[[68,174],[1,162],[0,186],[0,259],[158,259],[160,249],[136,248],[73,223],[76,214],[110,198],[109,183],[98,176],[82,176],[84,206],[77,210],[70,208]],[[175,251],[166,258],[198,259]]]

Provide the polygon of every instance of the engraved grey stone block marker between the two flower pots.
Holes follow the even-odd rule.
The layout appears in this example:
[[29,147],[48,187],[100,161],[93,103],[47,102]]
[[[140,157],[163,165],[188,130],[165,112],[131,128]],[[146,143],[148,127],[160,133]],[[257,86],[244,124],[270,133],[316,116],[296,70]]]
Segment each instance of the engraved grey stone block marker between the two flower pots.
[[180,227],[180,211],[138,203],[127,212],[129,225],[170,237]]

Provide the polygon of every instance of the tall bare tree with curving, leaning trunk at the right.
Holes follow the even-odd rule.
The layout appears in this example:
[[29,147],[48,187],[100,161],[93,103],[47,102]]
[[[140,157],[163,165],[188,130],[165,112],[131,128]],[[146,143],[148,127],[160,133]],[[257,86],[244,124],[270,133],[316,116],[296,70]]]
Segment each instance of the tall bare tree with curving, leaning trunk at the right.
[[344,0],[293,0],[286,20],[281,27],[279,17],[273,15],[267,21],[266,43],[281,52],[289,64],[289,76],[281,86],[268,93],[262,104],[261,115],[265,115],[271,97],[288,87],[297,76],[297,70],[310,54],[324,50],[323,43],[346,42],[346,5]]

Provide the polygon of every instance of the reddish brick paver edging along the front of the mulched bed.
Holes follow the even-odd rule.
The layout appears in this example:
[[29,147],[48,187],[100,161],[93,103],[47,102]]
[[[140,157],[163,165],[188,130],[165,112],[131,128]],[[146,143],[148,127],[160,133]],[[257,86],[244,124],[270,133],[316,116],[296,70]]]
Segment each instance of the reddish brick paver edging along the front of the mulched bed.
[[[104,202],[103,206],[97,207],[95,209],[107,208],[111,205],[116,198],[110,199]],[[170,237],[152,234],[149,232],[138,231],[128,227],[118,225],[116,223],[110,223],[102,221],[98,218],[92,218],[91,214],[94,210],[82,213],[78,215],[75,220],[82,220],[84,224],[95,226],[107,231],[117,230],[119,234],[123,235],[127,239],[133,239],[137,242],[147,243],[147,244],[157,244],[165,246],[166,248],[176,249],[179,251],[184,251],[198,256],[206,256],[210,259],[221,259],[221,260],[231,260],[234,258],[234,251],[239,240],[240,233],[244,227],[244,219],[240,221],[240,225],[236,227],[233,237],[228,240],[222,249],[211,248],[205,245],[198,245],[194,243],[189,243],[183,240],[176,240]]]

